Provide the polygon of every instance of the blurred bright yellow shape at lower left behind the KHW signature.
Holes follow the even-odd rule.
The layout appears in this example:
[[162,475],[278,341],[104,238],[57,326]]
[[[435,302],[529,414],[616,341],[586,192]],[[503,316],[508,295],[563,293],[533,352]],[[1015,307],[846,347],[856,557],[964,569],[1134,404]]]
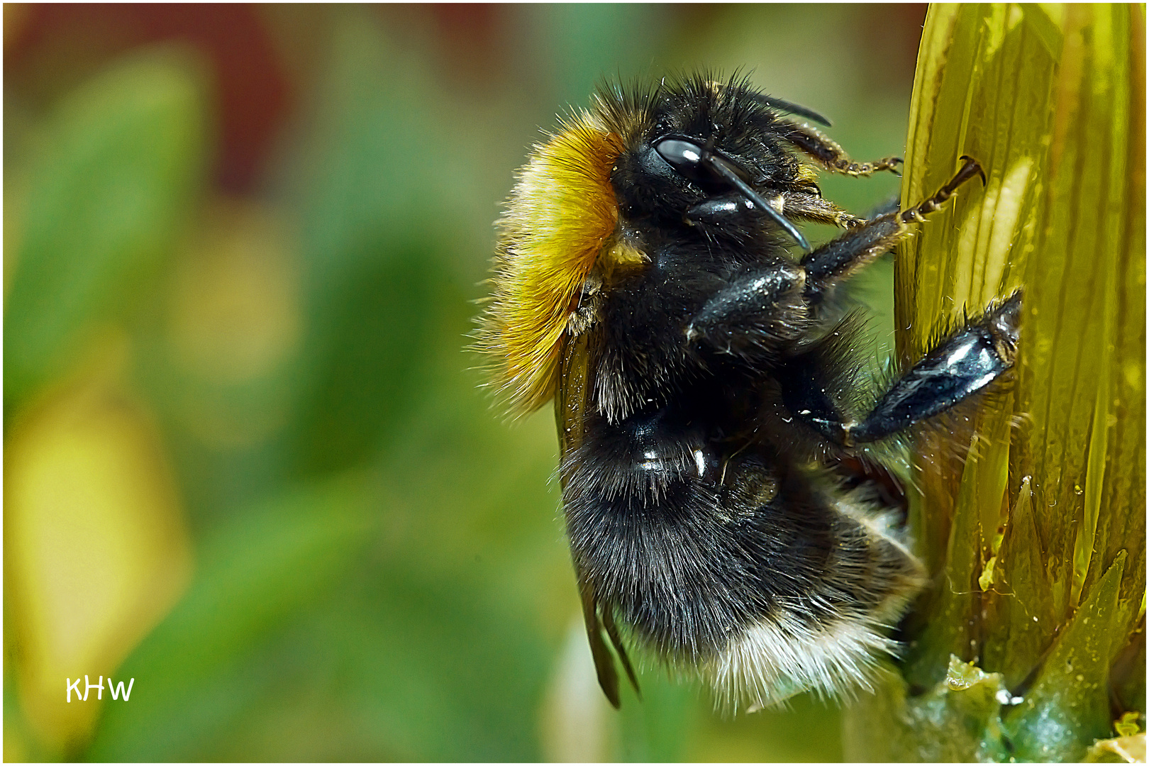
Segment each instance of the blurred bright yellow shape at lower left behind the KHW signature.
[[[14,425],[5,456],[5,595],[21,698],[43,742],[64,752],[101,705],[94,693],[67,702],[65,678],[115,673],[192,568],[165,456],[118,382],[124,343],[113,346]],[[137,679],[136,691],[146,684]]]

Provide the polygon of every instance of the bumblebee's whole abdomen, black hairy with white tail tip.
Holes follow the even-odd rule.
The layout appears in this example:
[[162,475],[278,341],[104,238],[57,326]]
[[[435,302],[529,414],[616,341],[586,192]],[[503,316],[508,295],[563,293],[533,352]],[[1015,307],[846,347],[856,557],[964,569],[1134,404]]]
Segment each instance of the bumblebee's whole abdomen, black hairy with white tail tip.
[[727,704],[865,684],[923,582],[881,509],[762,448],[724,458],[680,419],[662,433],[641,419],[640,440],[595,420],[564,466],[576,567],[600,608]]

